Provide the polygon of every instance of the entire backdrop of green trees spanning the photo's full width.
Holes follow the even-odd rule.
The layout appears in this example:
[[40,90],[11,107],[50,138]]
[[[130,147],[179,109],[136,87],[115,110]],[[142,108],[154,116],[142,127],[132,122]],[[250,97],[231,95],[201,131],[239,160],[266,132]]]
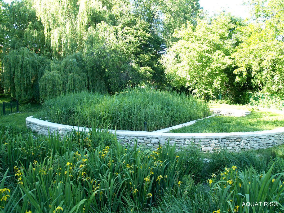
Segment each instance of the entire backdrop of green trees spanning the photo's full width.
[[0,0],[0,91],[39,101],[154,84],[283,97],[283,1],[247,5],[243,20],[195,0]]

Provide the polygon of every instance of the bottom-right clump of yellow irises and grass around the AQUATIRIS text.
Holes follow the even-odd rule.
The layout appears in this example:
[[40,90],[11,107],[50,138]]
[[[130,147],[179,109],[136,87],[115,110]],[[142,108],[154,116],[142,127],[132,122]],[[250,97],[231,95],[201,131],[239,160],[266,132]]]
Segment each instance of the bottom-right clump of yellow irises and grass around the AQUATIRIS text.
[[[186,184],[166,193],[151,212],[284,212],[284,173],[223,168],[207,187]],[[256,204],[257,203],[257,204]]]

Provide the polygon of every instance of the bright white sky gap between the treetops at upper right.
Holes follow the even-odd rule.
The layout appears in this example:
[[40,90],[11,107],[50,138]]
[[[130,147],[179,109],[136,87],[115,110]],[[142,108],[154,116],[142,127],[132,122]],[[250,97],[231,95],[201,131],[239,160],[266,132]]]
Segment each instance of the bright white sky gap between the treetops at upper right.
[[242,5],[243,0],[199,0],[199,4],[210,15],[225,10],[231,12],[234,16],[250,17],[249,7],[248,5]]

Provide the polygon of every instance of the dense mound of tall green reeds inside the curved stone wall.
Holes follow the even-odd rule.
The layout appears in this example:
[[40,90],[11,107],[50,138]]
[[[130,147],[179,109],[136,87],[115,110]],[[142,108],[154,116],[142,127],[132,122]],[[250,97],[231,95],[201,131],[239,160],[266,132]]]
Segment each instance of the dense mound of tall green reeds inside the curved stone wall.
[[183,93],[136,87],[115,95],[74,93],[45,101],[37,116],[51,122],[117,130],[155,131],[210,114],[207,105]]

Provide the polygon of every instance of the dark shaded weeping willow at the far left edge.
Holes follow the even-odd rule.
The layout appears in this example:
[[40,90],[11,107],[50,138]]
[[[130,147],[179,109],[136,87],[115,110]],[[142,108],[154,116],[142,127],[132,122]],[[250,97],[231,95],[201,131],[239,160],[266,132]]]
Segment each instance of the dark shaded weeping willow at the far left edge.
[[4,37],[1,61],[4,93],[20,101],[39,100],[39,79],[49,60],[44,28],[37,20],[32,1],[23,0],[6,5],[7,19],[1,23]]

